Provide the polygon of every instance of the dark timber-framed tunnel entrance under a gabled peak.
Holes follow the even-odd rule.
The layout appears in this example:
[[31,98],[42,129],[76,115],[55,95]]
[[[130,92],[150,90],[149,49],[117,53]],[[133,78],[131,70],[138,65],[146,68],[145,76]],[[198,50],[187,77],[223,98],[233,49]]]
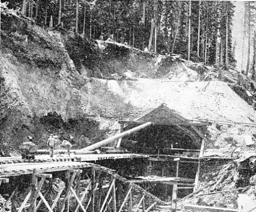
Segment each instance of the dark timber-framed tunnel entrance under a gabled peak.
[[[206,124],[187,120],[164,104],[138,119],[120,121],[122,131],[147,122],[152,122],[152,125],[122,138],[121,142],[121,147],[132,153],[149,155],[147,164],[144,164],[144,178],[138,176],[134,180],[141,180],[138,181],[141,186],[149,186],[152,193],[156,189],[160,193],[155,195],[165,200],[170,198],[176,179],[187,181],[180,184],[186,189],[180,189],[179,197],[193,192],[193,186],[198,179],[199,157],[203,149]],[[152,183],[149,176],[157,180]],[[159,186],[163,189],[157,189]]]

